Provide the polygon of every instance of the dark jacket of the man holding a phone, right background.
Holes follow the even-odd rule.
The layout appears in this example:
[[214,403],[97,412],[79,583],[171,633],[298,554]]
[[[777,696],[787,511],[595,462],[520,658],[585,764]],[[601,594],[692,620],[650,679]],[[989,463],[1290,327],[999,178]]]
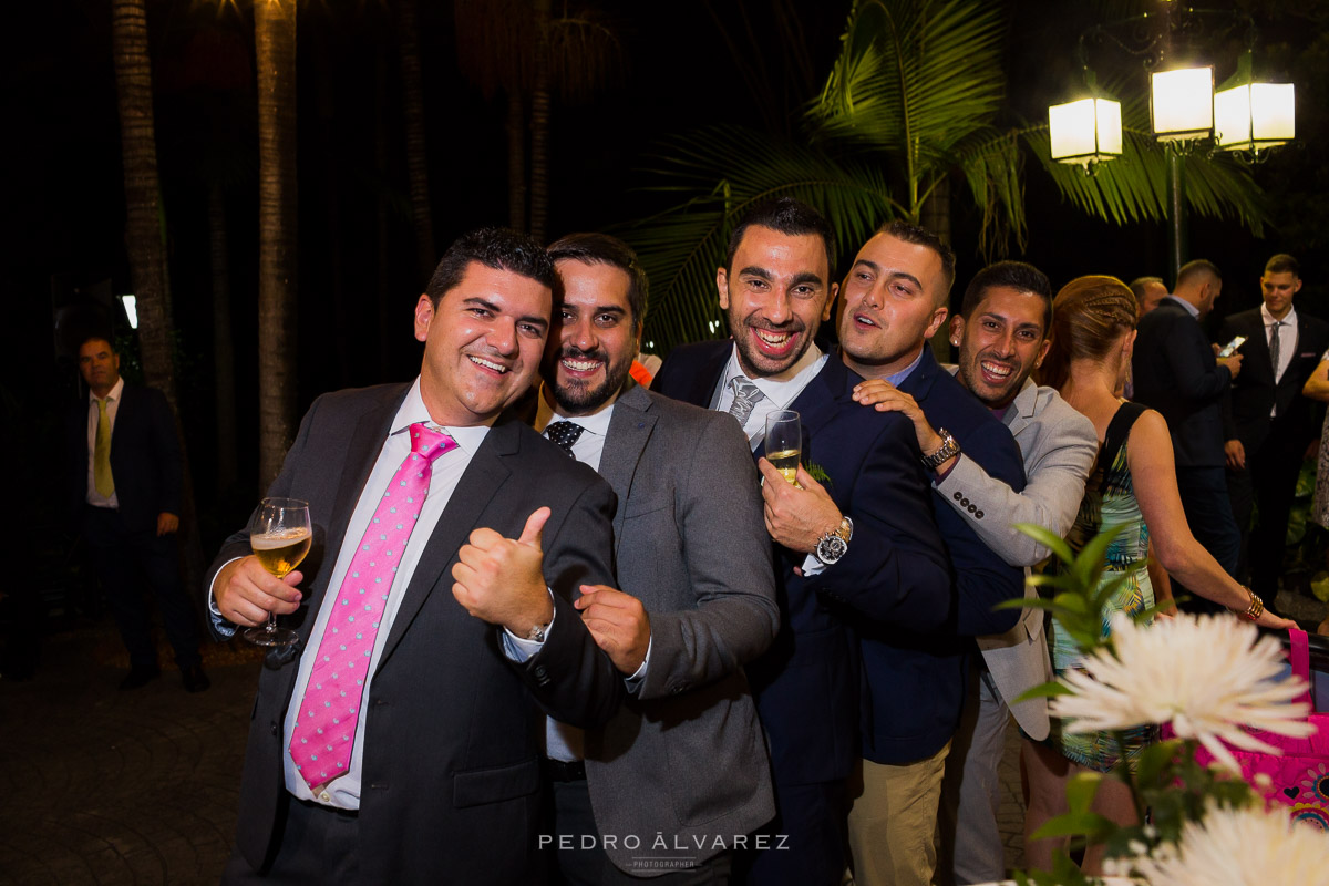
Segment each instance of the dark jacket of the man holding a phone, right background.
[[1131,376],[1135,400],[1167,420],[1177,468],[1225,464],[1223,397],[1232,373],[1216,363],[1200,321],[1174,299],[1140,320]]

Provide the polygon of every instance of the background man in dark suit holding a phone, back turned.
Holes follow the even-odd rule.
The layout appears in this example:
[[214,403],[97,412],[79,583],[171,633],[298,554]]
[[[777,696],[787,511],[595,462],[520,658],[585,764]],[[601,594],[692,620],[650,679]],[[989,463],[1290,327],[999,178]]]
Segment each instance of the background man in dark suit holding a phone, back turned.
[[[1223,402],[1241,372],[1241,355],[1215,359],[1200,328],[1221,291],[1223,278],[1212,262],[1196,259],[1181,266],[1176,291],[1140,320],[1131,376],[1135,399],[1167,420],[1176,486],[1191,533],[1235,574],[1241,534],[1228,499]],[[1192,594],[1181,608],[1216,612],[1223,607]]]

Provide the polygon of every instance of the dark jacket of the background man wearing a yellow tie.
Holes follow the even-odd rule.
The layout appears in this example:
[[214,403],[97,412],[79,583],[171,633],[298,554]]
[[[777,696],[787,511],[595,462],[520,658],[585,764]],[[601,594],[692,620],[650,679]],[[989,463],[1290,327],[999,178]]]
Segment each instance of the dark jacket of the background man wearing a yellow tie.
[[[88,499],[88,399],[81,397],[65,414],[66,507],[76,531]],[[125,383],[121,389],[110,434],[110,476],[120,518],[132,531],[155,534],[158,514],[179,515],[179,437],[170,405],[157,388]]]

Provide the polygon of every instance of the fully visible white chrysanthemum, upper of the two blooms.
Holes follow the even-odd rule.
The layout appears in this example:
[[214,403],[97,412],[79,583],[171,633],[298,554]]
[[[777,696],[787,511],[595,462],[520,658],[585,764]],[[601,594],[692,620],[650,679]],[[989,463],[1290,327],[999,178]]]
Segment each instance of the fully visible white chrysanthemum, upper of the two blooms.
[[[1112,650],[1100,648],[1066,672],[1075,695],[1053,699],[1049,712],[1074,717],[1067,732],[1128,729],[1170,723],[1183,739],[1199,739],[1229,769],[1236,760],[1223,741],[1247,751],[1278,753],[1241,727],[1305,737],[1308,705],[1298,677],[1275,680],[1286,656],[1273,636],[1257,639],[1249,622],[1231,615],[1179,615],[1138,626],[1112,616]],[[1115,656],[1112,654],[1115,651]],[[1223,741],[1220,741],[1220,739]]]

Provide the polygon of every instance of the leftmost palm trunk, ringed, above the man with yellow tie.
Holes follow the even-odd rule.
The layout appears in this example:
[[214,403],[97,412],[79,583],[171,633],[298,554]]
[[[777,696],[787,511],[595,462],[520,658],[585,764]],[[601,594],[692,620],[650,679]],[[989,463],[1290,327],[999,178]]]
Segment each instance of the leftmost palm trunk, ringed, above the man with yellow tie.
[[161,231],[161,185],[153,124],[153,80],[148,57],[145,0],[112,5],[116,93],[125,166],[125,250],[138,299],[138,347],[144,377],[175,408],[175,367],[166,304],[165,250]]

